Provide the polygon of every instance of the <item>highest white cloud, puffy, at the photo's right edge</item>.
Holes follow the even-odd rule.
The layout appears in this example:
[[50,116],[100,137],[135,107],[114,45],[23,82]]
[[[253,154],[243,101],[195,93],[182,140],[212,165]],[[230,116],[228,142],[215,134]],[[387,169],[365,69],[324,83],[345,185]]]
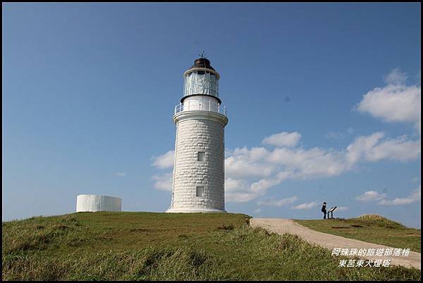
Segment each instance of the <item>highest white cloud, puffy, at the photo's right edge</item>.
[[397,69],[386,76],[385,87],[364,94],[356,109],[385,122],[411,122],[421,132],[421,87],[405,85],[406,75]]

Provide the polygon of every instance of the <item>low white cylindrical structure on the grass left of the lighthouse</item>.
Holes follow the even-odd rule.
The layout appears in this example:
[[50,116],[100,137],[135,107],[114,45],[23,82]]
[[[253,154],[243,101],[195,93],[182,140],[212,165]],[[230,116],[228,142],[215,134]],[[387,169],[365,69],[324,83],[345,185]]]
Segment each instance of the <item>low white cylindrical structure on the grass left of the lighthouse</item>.
[[76,197],[76,212],[121,211],[122,199],[114,196],[80,194]]

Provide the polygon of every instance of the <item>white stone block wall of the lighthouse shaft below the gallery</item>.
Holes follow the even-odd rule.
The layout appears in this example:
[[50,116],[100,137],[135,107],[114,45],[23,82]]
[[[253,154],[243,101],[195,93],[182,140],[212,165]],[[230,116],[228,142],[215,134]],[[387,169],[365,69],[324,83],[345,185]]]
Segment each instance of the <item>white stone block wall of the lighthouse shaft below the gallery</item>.
[[[176,123],[171,208],[225,209],[223,128],[220,122],[198,118]],[[204,161],[197,161],[199,151]],[[203,196],[197,196],[197,187],[204,187]]]

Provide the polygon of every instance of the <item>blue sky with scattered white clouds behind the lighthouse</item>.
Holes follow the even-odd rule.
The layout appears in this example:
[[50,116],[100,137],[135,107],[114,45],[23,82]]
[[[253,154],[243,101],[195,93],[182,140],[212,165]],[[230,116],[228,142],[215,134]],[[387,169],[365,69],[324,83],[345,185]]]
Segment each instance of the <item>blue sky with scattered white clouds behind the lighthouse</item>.
[[221,75],[226,210],[420,227],[420,4],[3,4],[3,220],[164,211],[183,71]]

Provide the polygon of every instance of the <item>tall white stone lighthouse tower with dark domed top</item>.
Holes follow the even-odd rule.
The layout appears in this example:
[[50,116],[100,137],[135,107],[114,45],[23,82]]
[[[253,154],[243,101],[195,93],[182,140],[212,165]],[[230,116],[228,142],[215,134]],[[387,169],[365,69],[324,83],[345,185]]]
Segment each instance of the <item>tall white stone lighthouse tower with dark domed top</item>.
[[175,163],[168,213],[225,211],[226,108],[219,99],[219,73],[198,58],[183,74],[184,93],[175,107]]

